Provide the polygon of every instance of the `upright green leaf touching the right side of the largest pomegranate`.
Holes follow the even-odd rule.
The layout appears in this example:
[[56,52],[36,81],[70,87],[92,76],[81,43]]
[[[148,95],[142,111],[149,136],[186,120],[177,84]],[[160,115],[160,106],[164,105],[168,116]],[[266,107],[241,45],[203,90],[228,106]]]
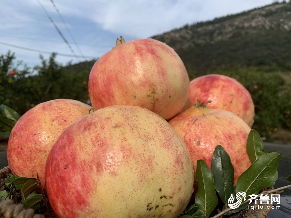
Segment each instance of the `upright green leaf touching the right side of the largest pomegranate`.
[[216,207],[218,199],[213,176],[204,160],[197,160],[196,181],[198,191],[195,196],[195,203],[204,215],[209,216]]

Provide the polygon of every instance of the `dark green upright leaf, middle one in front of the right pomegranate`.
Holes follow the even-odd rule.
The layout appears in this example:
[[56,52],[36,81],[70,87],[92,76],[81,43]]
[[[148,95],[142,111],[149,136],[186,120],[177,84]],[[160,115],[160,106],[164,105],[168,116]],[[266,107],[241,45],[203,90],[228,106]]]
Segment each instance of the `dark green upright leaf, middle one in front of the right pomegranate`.
[[217,145],[214,150],[211,162],[211,172],[215,189],[221,201],[227,204],[227,199],[233,190],[234,169],[228,153],[226,153],[221,145]]

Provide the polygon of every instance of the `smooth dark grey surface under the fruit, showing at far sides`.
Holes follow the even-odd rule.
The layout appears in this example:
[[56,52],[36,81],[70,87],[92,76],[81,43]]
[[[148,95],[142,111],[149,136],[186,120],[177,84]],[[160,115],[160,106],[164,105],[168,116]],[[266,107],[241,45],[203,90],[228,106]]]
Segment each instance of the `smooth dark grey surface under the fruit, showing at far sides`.
[[[285,177],[291,174],[291,146],[273,144],[273,143],[264,143],[264,149],[267,152],[278,152],[281,155],[281,161],[278,166],[279,177],[274,186],[274,188],[282,187],[289,185],[290,181],[286,181]],[[0,169],[7,166],[7,157],[6,151],[0,152]],[[273,209],[268,218],[291,218],[291,188],[286,189],[285,192],[281,193],[281,209]]]

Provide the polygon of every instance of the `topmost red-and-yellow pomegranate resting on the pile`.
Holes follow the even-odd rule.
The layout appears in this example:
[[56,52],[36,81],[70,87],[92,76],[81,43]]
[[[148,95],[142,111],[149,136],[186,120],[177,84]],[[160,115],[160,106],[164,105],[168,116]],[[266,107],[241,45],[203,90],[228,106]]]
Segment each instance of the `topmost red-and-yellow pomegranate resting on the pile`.
[[170,119],[184,106],[189,77],[178,54],[153,39],[114,47],[94,64],[89,95],[94,108],[133,105]]

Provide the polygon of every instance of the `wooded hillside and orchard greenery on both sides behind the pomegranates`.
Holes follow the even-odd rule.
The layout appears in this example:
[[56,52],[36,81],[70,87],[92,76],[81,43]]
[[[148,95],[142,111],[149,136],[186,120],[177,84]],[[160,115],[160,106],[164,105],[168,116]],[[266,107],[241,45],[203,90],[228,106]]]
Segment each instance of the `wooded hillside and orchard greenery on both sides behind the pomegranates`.
[[[253,128],[268,141],[291,144],[290,36],[291,2],[282,2],[152,38],[175,49],[190,79],[211,73],[236,78],[255,103]],[[50,99],[90,103],[88,77],[96,60],[62,66],[55,56],[40,56],[40,64],[28,68],[19,67],[15,54],[0,54],[0,103],[20,114]]]

